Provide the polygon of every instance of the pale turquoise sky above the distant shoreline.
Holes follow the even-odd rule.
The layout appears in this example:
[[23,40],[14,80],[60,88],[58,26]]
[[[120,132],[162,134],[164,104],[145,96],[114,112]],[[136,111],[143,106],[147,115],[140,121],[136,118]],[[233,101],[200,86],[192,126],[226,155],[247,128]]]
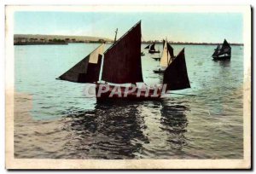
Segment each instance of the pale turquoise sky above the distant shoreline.
[[15,12],[15,34],[117,38],[142,20],[143,40],[243,43],[243,16],[238,13],[81,13]]

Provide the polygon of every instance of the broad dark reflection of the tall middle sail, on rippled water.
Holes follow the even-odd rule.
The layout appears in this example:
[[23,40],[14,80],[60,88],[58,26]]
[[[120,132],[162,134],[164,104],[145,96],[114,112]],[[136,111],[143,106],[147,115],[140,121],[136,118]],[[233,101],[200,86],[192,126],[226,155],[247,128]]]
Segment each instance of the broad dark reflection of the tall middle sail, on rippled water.
[[143,135],[145,125],[137,107],[136,104],[127,106],[124,102],[111,105],[101,102],[96,103],[94,111],[67,116],[72,120],[67,129],[73,132],[73,138],[79,139],[68,146],[88,151],[86,155],[93,159],[135,158],[134,153],[142,145],[133,141],[148,142]]

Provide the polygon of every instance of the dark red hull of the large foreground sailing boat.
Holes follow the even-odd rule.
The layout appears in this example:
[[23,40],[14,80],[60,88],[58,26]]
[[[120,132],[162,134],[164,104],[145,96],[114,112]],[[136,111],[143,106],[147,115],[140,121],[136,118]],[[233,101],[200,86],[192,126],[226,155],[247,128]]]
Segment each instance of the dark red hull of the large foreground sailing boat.
[[[108,85],[108,84],[106,84]],[[105,93],[102,93],[101,96],[98,96],[100,85],[96,84],[96,100],[97,101],[105,101],[105,100],[129,100],[129,101],[154,101],[154,100],[160,100],[162,90],[158,89],[157,92],[154,94],[154,89],[150,89],[148,94],[146,94],[146,91],[141,91],[140,95],[137,96],[138,88],[133,92],[127,92],[127,95],[125,96],[125,87],[120,87],[121,93],[119,94],[113,94],[111,96],[111,93],[114,89],[114,85],[108,85],[109,90]]]

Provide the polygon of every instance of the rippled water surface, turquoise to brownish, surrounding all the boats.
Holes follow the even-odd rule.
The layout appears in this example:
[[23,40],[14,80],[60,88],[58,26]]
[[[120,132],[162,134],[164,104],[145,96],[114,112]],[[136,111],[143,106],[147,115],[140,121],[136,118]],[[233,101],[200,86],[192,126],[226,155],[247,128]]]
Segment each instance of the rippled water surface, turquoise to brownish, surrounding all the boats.
[[[172,45],[175,55],[185,47],[191,84],[173,93],[195,96],[96,102],[84,96],[86,84],[55,78],[97,46],[15,46],[15,158],[243,157],[243,47],[232,46],[231,61],[212,61],[215,46]],[[160,83],[159,61],[144,52],[144,82]]]

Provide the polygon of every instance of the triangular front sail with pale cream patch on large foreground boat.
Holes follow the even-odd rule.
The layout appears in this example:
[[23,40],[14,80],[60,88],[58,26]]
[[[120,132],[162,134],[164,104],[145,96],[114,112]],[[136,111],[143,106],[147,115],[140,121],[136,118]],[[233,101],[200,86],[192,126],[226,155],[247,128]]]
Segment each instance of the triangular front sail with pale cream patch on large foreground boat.
[[76,83],[93,83],[98,81],[102,63],[102,52],[103,44],[66,73],[63,73],[58,79]]

